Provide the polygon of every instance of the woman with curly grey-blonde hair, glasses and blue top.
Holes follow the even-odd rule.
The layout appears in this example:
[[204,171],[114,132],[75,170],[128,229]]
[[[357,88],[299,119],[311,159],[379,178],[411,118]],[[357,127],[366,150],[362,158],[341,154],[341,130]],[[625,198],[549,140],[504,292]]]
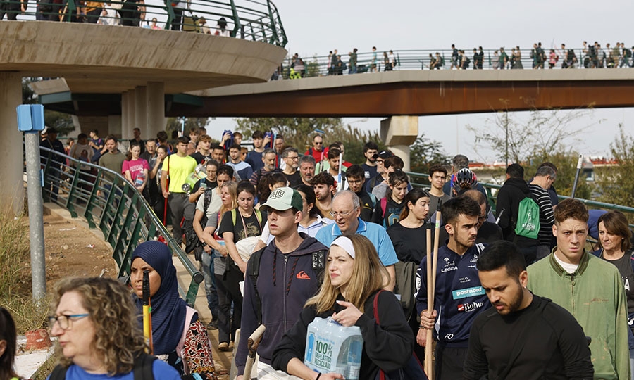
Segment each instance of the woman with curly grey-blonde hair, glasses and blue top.
[[51,380],[132,380],[136,365],[146,371],[151,366],[154,379],[180,379],[166,362],[145,354],[130,291],[115,279],[64,279],[51,305],[49,329],[61,353]]

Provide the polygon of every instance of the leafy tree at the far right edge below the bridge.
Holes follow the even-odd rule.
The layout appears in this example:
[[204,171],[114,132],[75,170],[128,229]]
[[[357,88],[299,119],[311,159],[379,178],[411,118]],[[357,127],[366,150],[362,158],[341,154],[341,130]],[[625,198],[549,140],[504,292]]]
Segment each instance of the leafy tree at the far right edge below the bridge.
[[619,134],[610,144],[610,151],[616,165],[605,168],[598,176],[599,200],[634,205],[634,137],[625,133],[623,125],[619,125]]

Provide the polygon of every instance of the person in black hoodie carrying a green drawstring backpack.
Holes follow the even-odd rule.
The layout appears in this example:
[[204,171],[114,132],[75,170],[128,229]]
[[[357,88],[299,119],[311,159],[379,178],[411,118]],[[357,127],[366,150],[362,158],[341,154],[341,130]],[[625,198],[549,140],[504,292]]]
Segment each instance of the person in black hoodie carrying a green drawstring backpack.
[[526,259],[526,264],[535,261],[537,255],[537,239],[529,239],[515,234],[519,203],[530,195],[528,184],[524,181],[524,168],[513,163],[506,168],[506,182],[497,192],[495,217],[502,227],[504,239],[513,241],[520,248]]

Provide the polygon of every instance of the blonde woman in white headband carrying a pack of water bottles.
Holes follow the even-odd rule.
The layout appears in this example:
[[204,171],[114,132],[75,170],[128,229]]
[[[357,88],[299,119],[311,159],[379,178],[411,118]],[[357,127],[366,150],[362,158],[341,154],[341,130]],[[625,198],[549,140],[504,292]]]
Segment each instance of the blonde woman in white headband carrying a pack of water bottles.
[[319,374],[304,365],[309,323],[332,316],[343,326],[361,328],[359,379],[402,368],[411,358],[414,336],[397,298],[382,290],[385,277],[387,270],[365,236],[342,235],[332,241],[321,288],[275,348],[273,367],[301,379],[343,379],[343,374]]

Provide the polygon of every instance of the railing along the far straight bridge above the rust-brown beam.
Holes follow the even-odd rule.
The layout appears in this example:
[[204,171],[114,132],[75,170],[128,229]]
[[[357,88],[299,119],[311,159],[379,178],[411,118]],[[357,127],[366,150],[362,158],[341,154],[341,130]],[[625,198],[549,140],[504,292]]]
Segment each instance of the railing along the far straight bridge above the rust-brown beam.
[[[506,69],[511,69],[511,47],[509,47],[509,51],[506,51],[506,54],[509,56],[509,61],[506,65]],[[352,49],[351,49],[352,50]],[[495,51],[499,49],[483,49],[484,58],[483,58],[483,70],[495,70]],[[530,50],[531,49],[520,49],[521,51],[521,59],[518,60],[521,62],[521,68],[523,69],[531,69],[533,68],[533,58],[530,58]],[[549,67],[549,51],[550,49],[544,49],[547,55],[546,61],[544,61],[544,68],[548,69]],[[561,69],[562,63],[566,61],[566,57],[562,57],[561,49],[554,49],[555,52],[559,55],[559,60],[555,64],[554,68]],[[617,67],[621,64],[621,57],[611,57],[611,51],[605,50],[606,58],[605,60],[597,60],[590,58],[588,54],[583,52],[583,49],[571,49],[575,53],[574,62],[571,62],[568,65],[568,68],[591,68],[593,65],[598,65],[599,67]],[[387,51],[389,52],[389,50]],[[393,70],[430,70],[429,65],[431,62],[430,54],[435,57],[435,53],[440,54],[440,58],[444,64],[440,66],[440,70],[447,70],[452,66],[452,50],[451,49],[419,49],[419,50],[394,50],[394,58],[396,61],[396,65]],[[292,53],[291,53],[292,54]],[[342,61],[346,64],[346,69],[342,70],[340,75],[349,75],[350,72],[350,64],[349,64],[349,52],[342,51],[338,55],[341,56]],[[468,58],[469,65],[468,70],[473,70],[473,46],[471,49],[465,49],[464,55]],[[371,70],[371,64],[373,62],[374,53],[372,51],[368,52],[357,52],[357,72],[369,72]],[[313,57],[300,57],[304,61],[304,71],[302,77],[321,77],[324,75],[339,75],[337,70],[329,70],[329,61],[328,56],[313,56]],[[297,78],[297,75],[292,75],[290,70],[293,64],[294,57],[290,55],[287,57],[284,63],[284,70],[282,70],[281,76],[283,79],[288,78]],[[631,57],[628,58],[628,63],[631,62]],[[385,70],[385,64],[383,63],[383,50],[376,51],[376,68],[378,71]],[[517,67],[519,68],[519,67]]]

